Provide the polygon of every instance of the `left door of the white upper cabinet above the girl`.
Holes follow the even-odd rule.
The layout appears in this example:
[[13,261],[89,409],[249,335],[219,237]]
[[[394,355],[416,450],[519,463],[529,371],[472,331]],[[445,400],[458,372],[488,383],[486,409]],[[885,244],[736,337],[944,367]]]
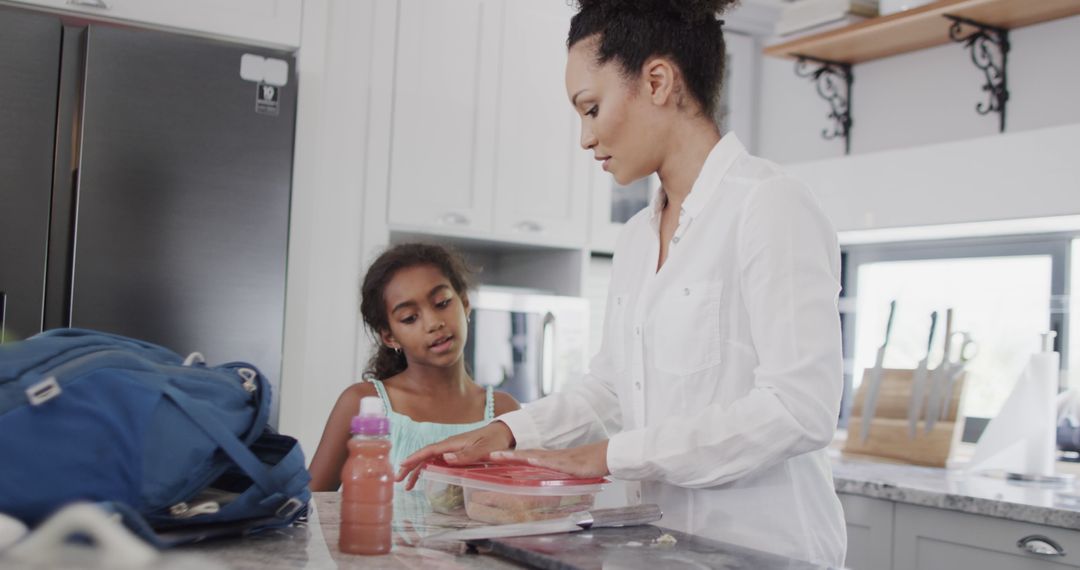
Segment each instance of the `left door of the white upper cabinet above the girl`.
[[390,222],[485,234],[502,3],[403,0],[400,10]]

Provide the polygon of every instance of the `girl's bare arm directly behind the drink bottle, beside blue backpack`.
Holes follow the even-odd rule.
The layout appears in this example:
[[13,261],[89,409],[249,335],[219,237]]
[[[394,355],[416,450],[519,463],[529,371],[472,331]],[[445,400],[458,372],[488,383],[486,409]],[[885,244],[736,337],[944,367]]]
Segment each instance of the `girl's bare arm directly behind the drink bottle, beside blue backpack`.
[[360,398],[378,395],[375,384],[360,382],[347,388],[338,396],[330,417],[326,419],[326,428],[323,429],[315,457],[308,467],[311,472],[309,487],[312,491],[336,491],[341,486],[341,467],[349,457],[349,449],[346,447],[349,442],[349,423],[360,410]]

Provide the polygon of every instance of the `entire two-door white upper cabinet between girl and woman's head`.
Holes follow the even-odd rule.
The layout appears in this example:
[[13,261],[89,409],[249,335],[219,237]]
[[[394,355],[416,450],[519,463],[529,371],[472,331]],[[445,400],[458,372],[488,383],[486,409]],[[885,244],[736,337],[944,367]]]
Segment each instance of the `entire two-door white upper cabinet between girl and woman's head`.
[[402,0],[391,229],[581,247],[588,155],[561,0]]

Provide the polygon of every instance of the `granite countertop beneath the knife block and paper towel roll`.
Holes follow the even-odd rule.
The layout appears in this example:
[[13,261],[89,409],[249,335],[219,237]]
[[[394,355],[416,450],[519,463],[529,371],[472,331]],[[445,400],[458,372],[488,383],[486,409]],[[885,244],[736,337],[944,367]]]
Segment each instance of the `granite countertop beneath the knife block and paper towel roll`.
[[1003,476],[851,459],[832,453],[836,492],[974,515],[1080,529],[1080,488],[1008,481]]

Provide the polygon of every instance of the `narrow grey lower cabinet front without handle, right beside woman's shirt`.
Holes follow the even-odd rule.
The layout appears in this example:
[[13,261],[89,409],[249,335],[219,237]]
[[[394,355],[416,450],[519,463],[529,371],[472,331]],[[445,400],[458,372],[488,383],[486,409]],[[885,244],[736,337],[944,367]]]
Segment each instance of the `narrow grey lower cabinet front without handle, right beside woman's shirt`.
[[856,494],[840,494],[848,527],[845,566],[852,570],[892,568],[893,503]]

